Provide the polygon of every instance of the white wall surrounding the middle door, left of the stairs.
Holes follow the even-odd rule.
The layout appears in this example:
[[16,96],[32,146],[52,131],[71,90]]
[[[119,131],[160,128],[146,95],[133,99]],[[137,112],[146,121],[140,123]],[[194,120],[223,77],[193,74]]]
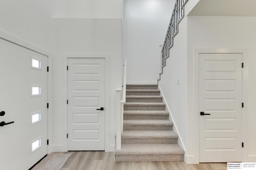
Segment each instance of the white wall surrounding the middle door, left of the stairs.
[[[65,150],[66,135],[63,122],[66,107],[63,96],[64,53],[109,53],[110,54],[110,150],[115,145],[115,89],[122,87],[122,20],[121,19],[53,19],[53,150]],[[66,140],[66,139],[65,139]]]

